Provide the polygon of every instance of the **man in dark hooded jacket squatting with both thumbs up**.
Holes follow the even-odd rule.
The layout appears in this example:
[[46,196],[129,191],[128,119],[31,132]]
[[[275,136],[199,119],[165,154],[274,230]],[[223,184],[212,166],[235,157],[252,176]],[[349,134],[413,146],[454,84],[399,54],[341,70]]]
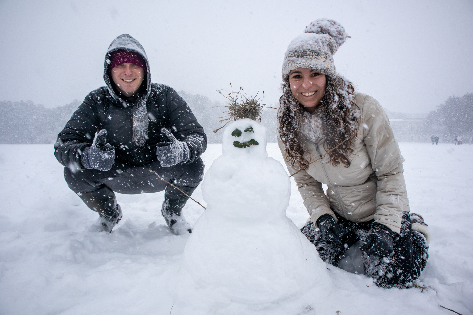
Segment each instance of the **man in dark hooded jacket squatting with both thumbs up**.
[[164,190],[161,212],[171,232],[191,233],[181,215],[188,198],[149,170],[191,195],[204,169],[201,125],[173,88],[151,83],[148,57],[130,35],[110,44],[104,64],[106,86],[86,96],[54,144],[69,188],[108,232],[122,218],[114,192]]

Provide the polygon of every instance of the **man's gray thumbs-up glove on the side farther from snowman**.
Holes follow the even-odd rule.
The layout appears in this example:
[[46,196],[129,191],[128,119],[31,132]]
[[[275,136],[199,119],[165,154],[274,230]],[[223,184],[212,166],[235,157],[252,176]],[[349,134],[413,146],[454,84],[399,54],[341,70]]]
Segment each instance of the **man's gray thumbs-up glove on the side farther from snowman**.
[[80,155],[80,163],[85,168],[95,168],[100,171],[108,171],[115,162],[115,147],[107,143],[107,131],[102,129],[98,132],[92,146],[87,147]]

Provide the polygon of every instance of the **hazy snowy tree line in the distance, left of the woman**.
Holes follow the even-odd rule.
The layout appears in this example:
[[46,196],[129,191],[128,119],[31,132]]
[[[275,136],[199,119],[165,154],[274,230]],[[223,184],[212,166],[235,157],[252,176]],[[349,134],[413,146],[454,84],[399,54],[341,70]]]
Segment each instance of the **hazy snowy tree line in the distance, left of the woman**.
[[[226,108],[207,96],[178,92],[191,107],[197,120],[207,134],[209,143],[221,143],[223,129],[219,128],[220,117]],[[80,105],[78,100],[55,108],[35,105],[31,101],[0,101],[0,143],[2,144],[53,144],[70,116]],[[273,106],[276,107],[276,106]],[[276,142],[276,110],[263,110],[262,122],[266,126],[268,142]]]

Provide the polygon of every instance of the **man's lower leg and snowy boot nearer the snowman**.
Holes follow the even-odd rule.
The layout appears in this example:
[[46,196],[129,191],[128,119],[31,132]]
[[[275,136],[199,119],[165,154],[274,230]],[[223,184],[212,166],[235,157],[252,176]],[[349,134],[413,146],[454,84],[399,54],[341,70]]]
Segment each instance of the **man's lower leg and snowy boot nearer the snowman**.
[[[184,193],[189,196],[197,187],[179,187]],[[184,233],[192,233],[191,225],[185,220],[181,214],[182,208],[189,198],[172,186],[166,187],[164,193],[163,206],[161,213],[163,214],[166,224],[171,230],[171,233],[180,235]]]

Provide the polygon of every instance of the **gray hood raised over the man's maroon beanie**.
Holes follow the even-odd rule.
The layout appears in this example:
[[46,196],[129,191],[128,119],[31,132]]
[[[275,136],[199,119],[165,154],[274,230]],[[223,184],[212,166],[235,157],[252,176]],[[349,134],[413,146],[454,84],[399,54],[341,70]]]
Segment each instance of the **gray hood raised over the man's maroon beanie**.
[[[120,50],[120,49],[124,49],[124,50],[129,50],[133,53],[139,53],[141,55],[141,57],[143,57],[143,59],[145,60],[146,62],[146,82],[143,81],[143,83],[146,83],[146,93],[145,95],[143,95],[143,98],[144,99],[148,99],[149,97],[149,94],[151,93],[151,73],[149,71],[149,61],[148,61],[148,56],[146,55],[146,52],[143,48],[143,46],[141,46],[140,42],[137,41],[135,38],[133,38],[132,36],[128,35],[128,34],[122,34],[120,36],[118,36],[117,38],[115,38],[112,42],[112,44],[110,44],[110,46],[108,46],[108,49],[107,49],[107,53],[105,53],[105,62],[104,62],[104,80],[105,80],[105,84],[107,85],[108,87],[108,91],[110,93],[110,95],[115,99],[119,99],[120,97],[115,93],[114,91],[114,88],[113,88],[113,85],[112,85],[112,78],[110,76],[110,54],[116,50]],[[141,84],[143,84],[141,83]]]

